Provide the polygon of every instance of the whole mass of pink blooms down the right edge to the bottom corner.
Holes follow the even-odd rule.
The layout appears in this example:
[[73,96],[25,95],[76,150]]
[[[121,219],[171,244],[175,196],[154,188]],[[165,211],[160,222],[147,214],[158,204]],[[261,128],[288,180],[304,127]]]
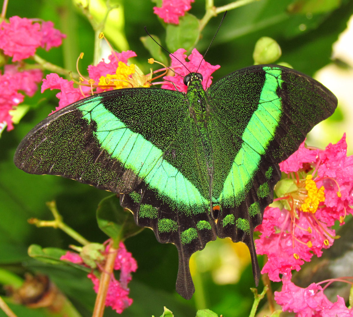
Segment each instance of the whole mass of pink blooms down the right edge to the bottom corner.
[[[303,142],[297,152],[280,163],[280,169],[288,173],[284,187],[288,188],[288,182],[292,186],[277,199],[284,207],[267,207],[262,224],[256,228],[261,232],[260,238],[255,240],[256,252],[268,257],[262,273],[268,273],[273,281],[282,280],[282,291],[276,292],[275,299],[283,310],[309,317],[336,316],[333,312],[342,309],[343,315],[337,316],[353,316],[342,298],[331,303],[320,286],[312,284],[303,289],[290,282],[293,269],[299,271],[304,261],[310,261],[314,254],[321,256],[322,249],[333,244],[336,237],[331,226],[334,222],[339,220],[343,224],[345,216],[353,213],[350,207],[353,205],[353,156],[347,157],[346,135],[325,150],[307,148]],[[305,187],[308,172],[315,186],[310,190]],[[281,188],[282,180],[276,185],[276,192],[277,186]],[[303,204],[307,197],[317,193],[315,190],[322,186],[324,201],[315,212],[305,212]]]

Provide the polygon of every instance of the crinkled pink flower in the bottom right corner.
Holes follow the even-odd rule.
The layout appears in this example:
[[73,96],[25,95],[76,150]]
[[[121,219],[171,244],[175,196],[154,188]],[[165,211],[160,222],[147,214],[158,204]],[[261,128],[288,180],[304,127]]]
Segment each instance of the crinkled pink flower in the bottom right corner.
[[286,275],[283,275],[282,282],[282,290],[275,292],[275,300],[283,311],[295,312],[297,317],[353,316],[353,310],[346,307],[342,297],[337,295],[336,303],[331,303],[320,285],[312,283],[301,288],[294,285]]

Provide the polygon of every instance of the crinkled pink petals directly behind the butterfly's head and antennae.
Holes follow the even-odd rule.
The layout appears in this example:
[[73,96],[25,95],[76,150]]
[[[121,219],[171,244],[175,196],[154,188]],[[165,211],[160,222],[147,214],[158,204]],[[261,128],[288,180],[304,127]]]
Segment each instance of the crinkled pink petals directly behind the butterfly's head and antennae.
[[[189,56],[184,54],[185,52],[186,52],[185,49],[179,48],[173,53],[173,55],[172,54],[169,55],[170,58],[172,59],[172,65],[170,67],[175,70],[175,75],[163,77],[163,79],[165,79],[166,81],[162,85],[162,88],[175,90],[175,87],[174,87],[175,85],[179,91],[186,92],[187,87],[183,83],[184,76],[189,74],[190,72],[196,72],[196,71],[198,73],[201,73],[203,76],[202,86],[204,89],[206,89],[211,85],[212,79],[213,79],[211,74],[221,66],[220,65],[212,66],[210,63],[203,60],[202,55],[197,51],[196,48],[192,50]],[[186,57],[189,59],[189,61],[186,61]],[[180,62],[177,59],[180,60]]]

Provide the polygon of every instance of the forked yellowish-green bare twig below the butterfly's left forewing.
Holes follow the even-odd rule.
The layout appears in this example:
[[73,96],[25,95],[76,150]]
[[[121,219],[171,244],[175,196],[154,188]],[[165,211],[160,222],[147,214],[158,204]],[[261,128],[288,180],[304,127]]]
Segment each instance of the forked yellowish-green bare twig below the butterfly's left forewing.
[[78,243],[82,245],[89,244],[90,242],[86,240],[83,236],[81,236],[78,232],[69,227],[65,222],[62,221],[62,217],[56,208],[55,201],[49,201],[46,203],[49,210],[52,212],[54,216],[54,220],[39,220],[36,218],[29,219],[28,222],[30,224],[36,225],[37,227],[53,227],[59,228],[64,231],[68,236],[75,239]]

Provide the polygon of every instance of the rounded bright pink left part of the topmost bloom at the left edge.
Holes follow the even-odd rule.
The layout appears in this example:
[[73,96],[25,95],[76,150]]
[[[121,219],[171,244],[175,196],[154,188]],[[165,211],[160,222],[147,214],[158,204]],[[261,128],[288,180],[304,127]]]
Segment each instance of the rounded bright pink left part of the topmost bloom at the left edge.
[[10,23],[0,23],[0,48],[6,55],[12,56],[13,62],[34,55],[42,40],[40,24],[18,16],[9,20]]

